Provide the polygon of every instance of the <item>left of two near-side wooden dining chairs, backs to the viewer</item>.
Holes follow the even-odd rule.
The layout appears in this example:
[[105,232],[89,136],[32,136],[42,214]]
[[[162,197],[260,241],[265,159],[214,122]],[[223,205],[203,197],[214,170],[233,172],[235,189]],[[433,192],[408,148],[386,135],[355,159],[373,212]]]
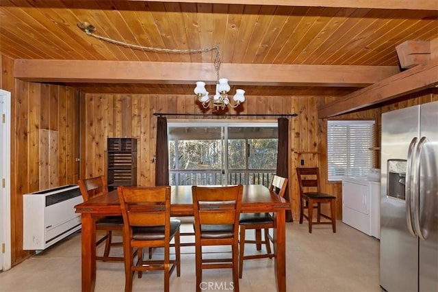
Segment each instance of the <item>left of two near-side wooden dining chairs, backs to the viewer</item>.
[[[118,187],[122,209],[123,247],[125,254],[125,292],[132,289],[133,273],[164,270],[164,291],[169,291],[169,278],[177,268],[181,275],[179,228],[181,221],[170,219],[170,187]],[[170,241],[175,239],[175,259],[170,259]],[[134,263],[133,251],[138,249]],[[143,260],[143,248],[164,248],[164,260]]]

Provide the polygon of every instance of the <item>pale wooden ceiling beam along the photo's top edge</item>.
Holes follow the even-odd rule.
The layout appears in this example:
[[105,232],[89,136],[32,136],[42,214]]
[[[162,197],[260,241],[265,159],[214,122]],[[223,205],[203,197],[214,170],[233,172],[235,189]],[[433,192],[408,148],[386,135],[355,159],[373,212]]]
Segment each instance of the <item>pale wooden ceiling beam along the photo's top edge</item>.
[[[144,1],[144,0],[129,0]],[[175,2],[175,0],[151,0],[151,2]],[[222,3],[246,5],[282,5],[337,8],[376,8],[407,10],[438,10],[437,0],[180,0],[180,3]]]

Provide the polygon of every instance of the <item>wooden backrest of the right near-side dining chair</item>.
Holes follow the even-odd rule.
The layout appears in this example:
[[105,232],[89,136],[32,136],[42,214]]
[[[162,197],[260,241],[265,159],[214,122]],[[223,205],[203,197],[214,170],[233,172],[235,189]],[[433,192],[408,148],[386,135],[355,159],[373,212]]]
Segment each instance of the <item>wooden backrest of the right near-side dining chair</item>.
[[[239,228],[243,185],[229,187],[192,187],[195,233],[201,225],[233,224]],[[198,229],[198,230],[196,230]]]

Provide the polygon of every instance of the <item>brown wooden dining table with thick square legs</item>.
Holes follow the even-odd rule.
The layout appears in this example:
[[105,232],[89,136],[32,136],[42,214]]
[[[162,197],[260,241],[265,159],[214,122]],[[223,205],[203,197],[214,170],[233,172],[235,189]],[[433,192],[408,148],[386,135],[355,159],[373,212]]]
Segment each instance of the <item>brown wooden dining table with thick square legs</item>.
[[[285,211],[289,202],[274,194],[263,185],[244,185],[242,196],[242,213],[274,214],[274,272],[276,289],[286,291],[286,239]],[[103,196],[92,198],[75,206],[76,213],[81,213],[81,282],[82,291],[94,291],[96,282],[96,228],[97,217],[121,215],[117,190]],[[192,186],[171,187],[170,215],[175,217],[194,216],[192,204]]]

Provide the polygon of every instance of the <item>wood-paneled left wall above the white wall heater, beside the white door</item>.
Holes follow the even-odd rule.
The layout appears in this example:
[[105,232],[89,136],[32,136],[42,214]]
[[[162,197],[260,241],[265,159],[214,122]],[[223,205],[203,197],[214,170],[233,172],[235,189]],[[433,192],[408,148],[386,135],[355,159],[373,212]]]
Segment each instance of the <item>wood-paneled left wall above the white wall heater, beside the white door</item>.
[[[14,60],[0,55],[0,88],[11,92],[11,258],[16,265],[34,253],[23,250],[23,194],[77,183],[79,98],[73,88],[16,80],[13,68]],[[46,133],[47,143],[40,143]]]

